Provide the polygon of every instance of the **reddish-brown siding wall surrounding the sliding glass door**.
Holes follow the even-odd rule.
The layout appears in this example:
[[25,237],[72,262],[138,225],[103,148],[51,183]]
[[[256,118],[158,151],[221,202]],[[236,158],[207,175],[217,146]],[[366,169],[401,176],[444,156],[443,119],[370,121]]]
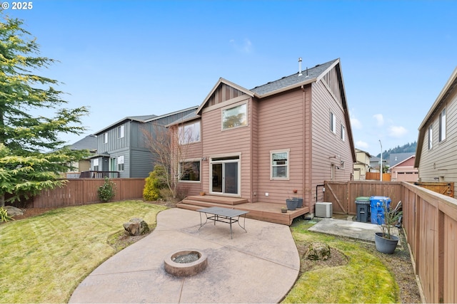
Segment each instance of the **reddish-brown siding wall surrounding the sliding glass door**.
[[[216,106],[204,108],[201,118],[202,139],[203,139],[203,157],[206,161],[201,164],[203,172],[203,191],[210,191],[209,181],[211,180],[209,166],[210,157],[219,155],[236,155],[240,154],[240,173],[241,183],[240,194],[244,198],[251,198],[250,184],[245,183],[251,179],[251,115],[252,100],[246,95],[246,99],[237,98],[236,103],[227,100]],[[229,108],[246,103],[248,105],[248,125],[243,127],[234,127],[229,130],[222,130],[222,110],[225,106]]]

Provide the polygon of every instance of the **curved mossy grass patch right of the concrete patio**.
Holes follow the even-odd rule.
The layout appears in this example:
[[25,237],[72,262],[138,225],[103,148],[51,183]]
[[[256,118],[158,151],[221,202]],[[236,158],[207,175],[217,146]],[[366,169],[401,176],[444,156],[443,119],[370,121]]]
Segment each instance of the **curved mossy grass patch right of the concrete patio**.
[[308,221],[291,226],[297,247],[328,243],[343,253],[348,263],[303,272],[282,303],[398,303],[395,278],[378,257],[356,241],[308,231],[311,226]]

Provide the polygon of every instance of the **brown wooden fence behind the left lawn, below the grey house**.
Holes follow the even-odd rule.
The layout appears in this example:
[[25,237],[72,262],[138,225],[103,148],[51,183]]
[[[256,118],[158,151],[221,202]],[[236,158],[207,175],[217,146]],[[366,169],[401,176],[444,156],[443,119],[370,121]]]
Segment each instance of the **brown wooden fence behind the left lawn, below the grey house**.
[[[141,199],[144,179],[110,179],[116,184],[116,195],[111,201]],[[44,190],[31,202],[32,208],[76,206],[99,202],[97,190],[104,179],[69,179],[61,188]]]

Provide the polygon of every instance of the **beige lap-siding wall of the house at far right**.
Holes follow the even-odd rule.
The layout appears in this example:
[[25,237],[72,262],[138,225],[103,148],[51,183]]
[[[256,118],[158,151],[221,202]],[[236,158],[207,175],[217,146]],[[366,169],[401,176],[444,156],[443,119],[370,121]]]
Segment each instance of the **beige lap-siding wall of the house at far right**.
[[[439,142],[439,114],[446,107],[446,139]],[[428,127],[433,125],[433,145],[428,149]],[[454,182],[457,193],[457,90],[444,100],[425,126],[419,179],[421,182]]]

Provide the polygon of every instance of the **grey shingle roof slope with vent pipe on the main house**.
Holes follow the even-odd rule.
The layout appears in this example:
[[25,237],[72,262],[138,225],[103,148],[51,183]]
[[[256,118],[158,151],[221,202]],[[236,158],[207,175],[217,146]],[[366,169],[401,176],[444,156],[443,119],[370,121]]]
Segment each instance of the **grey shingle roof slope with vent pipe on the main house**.
[[257,93],[258,95],[264,95],[281,88],[287,88],[291,85],[296,85],[297,83],[303,83],[303,81],[311,80],[313,78],[318,78],[328,67],[330,67],[335,61],[328,61],[327,63],[318,64],[313,68],[308,68],[307,70],[302,71],[302,75],[298,75],[298,72],[289,76],[285,76],[281,79],[271,81],[264,85],[258,85],[256,88],[251,89],[252,92]]

